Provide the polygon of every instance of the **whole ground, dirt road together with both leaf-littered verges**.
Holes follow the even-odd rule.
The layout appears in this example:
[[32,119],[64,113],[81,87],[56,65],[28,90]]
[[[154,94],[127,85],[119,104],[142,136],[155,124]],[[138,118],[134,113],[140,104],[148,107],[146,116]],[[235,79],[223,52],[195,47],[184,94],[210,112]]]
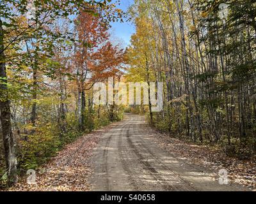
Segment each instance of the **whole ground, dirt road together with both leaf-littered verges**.
[[[218,183],[223,168],[228,185]],[[253,161],[180,142],[126,114],[67,145],[36,173],[36,185],[24,179],[10,191],[251,191],[255,175]]]

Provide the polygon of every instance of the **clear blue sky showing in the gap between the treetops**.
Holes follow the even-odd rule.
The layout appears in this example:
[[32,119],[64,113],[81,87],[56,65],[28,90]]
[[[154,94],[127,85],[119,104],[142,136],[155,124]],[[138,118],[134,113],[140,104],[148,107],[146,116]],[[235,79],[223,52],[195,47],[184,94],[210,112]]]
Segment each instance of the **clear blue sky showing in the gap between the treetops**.
[[[133,0],[121,0],[120,5],[117,8],[122,9],[123,11],[127,11],[129,6],[133,4]],[[135,33],[135,27],[132,22],[115,22],[111,23],[112,29],[112,40],[117,41],[118,43],[122,43],[124,47],[129,45],[130,39],[133,33]]]

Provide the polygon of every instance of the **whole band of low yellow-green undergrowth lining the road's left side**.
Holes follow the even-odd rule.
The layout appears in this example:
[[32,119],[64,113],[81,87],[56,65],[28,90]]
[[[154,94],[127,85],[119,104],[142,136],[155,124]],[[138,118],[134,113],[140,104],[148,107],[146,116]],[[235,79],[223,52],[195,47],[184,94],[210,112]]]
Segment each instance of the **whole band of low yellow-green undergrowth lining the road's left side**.
[[[106,115],[100,115],[100,119],[95,117],[95,113],[86,112],[84,115],[86,122],[85,133],[93,131],[110,122]],[[74,142],[84,133],[77,128],[77,119],[74,113],[68,113],[65,120],[65,129],[60,124],[54,122],[38,122],[36,128],[26,126],[28,131],[34,131],[31,135],[22,136],[18,145],[19,168],[26,172],[29,169],[38,168],[40,165],[55,156],[68,143]]]

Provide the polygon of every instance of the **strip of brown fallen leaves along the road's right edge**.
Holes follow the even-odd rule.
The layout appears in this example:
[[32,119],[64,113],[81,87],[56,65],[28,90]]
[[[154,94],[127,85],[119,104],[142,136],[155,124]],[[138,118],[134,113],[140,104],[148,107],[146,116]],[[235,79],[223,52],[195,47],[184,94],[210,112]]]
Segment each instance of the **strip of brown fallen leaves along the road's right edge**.
[[219,177],[221,169],[227,170],[230,182],[240,184],[249,189],[256,189],[256,157],[250,160],[241,160],[230,157],[220,149],[211,145],[196,145],[185,142],[169,135],[159,134],[156,130],[154,141],[166,152],[175,157],[186,158],[191,164],[199,164],[209,168]]

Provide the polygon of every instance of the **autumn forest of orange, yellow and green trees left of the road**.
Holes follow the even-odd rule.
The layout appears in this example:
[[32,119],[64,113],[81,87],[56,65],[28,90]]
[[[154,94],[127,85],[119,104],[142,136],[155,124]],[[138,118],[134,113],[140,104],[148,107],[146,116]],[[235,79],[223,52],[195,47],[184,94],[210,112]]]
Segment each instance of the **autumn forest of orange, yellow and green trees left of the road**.
[[91,89],[122,73],[124,50],[108,33],[122,11],[107,1],[33,3],[1,1],[3,182],[120,117],[114,106],[95,110]]

